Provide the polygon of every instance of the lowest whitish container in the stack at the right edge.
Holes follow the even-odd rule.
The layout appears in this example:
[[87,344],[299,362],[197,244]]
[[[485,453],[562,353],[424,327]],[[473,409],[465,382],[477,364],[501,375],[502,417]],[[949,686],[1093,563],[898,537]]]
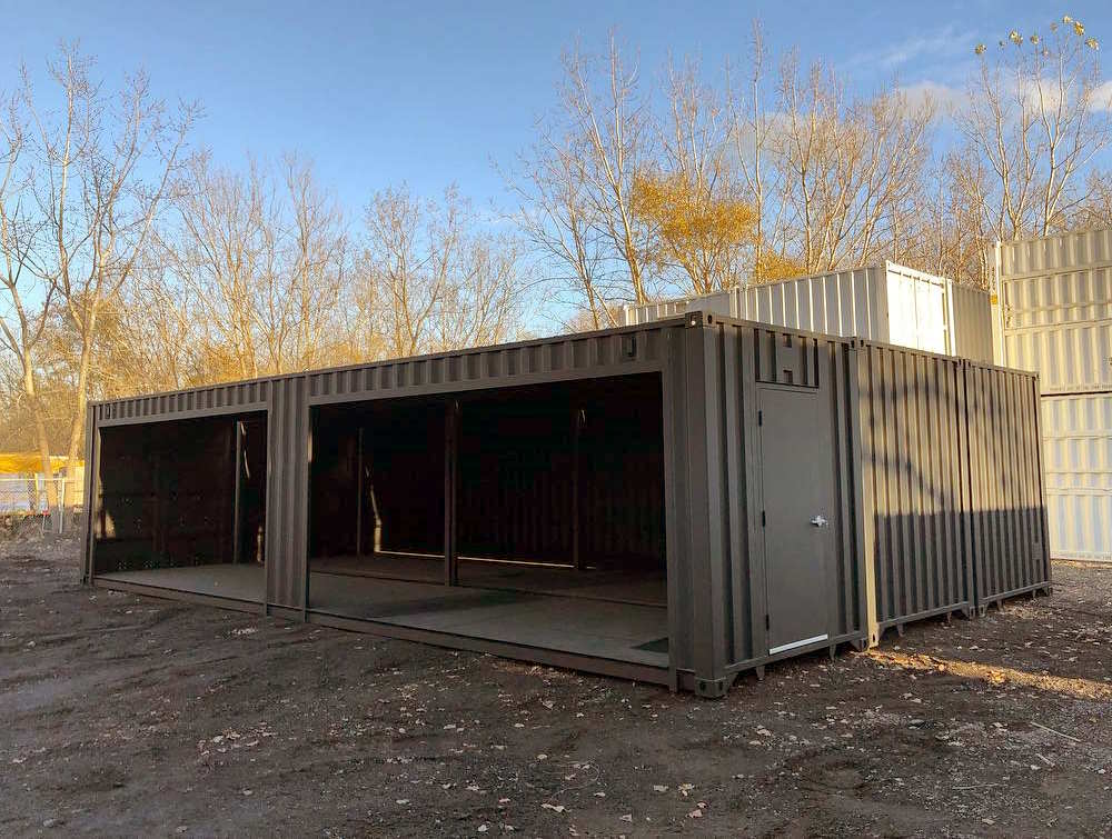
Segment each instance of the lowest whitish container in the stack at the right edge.
[[1112,561],[1112,393],[1043,397],[1051,556]]

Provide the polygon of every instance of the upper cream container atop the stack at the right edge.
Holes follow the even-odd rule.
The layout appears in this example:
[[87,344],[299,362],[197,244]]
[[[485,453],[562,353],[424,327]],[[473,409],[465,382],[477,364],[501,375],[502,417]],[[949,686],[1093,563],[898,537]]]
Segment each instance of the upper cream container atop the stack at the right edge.
[[999,363],[1043,393],[1112,390],[1112,230],[996,246]]

